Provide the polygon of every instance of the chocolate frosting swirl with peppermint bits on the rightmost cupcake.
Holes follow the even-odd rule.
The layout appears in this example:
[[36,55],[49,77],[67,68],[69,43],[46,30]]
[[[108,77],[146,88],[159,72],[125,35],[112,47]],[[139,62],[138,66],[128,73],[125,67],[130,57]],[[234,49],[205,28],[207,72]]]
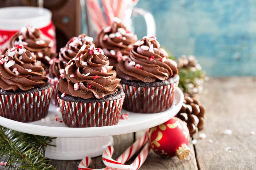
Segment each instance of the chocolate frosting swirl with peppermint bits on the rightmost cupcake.
[[129,57],[124,56],[117,64],[116,72],[125,80],[149,83],[167,80],[178,74],[178,69],[156,37],[143,37],[133,45]]

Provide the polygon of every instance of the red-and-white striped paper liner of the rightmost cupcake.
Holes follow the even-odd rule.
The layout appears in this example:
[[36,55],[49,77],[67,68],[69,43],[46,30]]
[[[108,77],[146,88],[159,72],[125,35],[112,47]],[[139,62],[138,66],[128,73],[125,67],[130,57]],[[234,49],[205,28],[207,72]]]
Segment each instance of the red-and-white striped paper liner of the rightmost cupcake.
[[170,85],[152,87],[122,84],[125,93],[123,109],[135,113],[158,113],[165,111],[172,106],[178,84],[179,81]]

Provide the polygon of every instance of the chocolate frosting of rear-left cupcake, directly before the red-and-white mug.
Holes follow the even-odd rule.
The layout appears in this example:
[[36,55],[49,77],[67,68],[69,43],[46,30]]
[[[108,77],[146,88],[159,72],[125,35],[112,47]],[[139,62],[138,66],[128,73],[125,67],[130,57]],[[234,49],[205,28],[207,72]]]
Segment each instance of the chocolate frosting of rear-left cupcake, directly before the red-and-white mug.
[[44,68],[49,67],[49,61],[56,56],[52,53],[51,40],[41,30],[34,27],[23,27],[10,39],[8,48],[22,44],[25,49],[36,55],[36,60],[41,61]]

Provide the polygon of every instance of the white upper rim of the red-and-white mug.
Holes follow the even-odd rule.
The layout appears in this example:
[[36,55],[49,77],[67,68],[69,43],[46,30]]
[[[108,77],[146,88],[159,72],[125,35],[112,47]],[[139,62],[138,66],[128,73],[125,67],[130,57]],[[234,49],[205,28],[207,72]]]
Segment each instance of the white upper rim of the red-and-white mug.
[[42,15],[38,16],[28,16],[26,18],[1,18],[0,17],[0,29],[8,31],[17,31],[20,30],[23,26],[34,26],[36,28],[43,28],[51,23],[52,12],[45,8],[40,7],[30,7],[30,6],[14,6],[14,7],[4,7],[0,8],[0,14],[5,11],[16,10],[17,14],[19,12],[28,12],[31,10],[42,11]]

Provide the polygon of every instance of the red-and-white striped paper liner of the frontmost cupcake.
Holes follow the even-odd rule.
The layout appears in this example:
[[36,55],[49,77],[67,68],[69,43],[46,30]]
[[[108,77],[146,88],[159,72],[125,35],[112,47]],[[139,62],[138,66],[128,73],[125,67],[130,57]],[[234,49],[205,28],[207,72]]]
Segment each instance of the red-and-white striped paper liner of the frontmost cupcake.
[[70,102],[58,96],[58,101],[63,121],[68,127],[101,127],[118,123],[124,96],[94,103]]

